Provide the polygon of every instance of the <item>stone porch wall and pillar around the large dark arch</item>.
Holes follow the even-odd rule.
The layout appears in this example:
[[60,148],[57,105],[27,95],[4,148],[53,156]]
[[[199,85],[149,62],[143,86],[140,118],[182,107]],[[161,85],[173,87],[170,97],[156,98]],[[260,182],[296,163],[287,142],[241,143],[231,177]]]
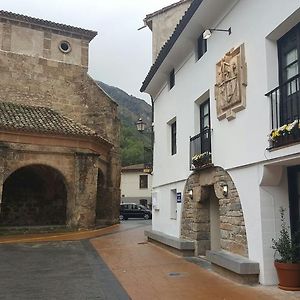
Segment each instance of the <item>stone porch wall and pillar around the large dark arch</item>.
[[[94,153],[83,153],[79,149],[1,143],[0,186],[3,188],[5,181],[21,168],[38,165],[45,168],[47,172],[53,169],[55,173],[60,174],[67,191],[64,224],[74,228],[93,227],[95,225],[98,159],[99,157]],[[47,176],[47,172],[44,174],[45,176]],[[46,179],[46,177],[42,177]],[[50,179],[47,176],[47,181]],[[42,192],[46,193],[46,191],[45,188]],[[2,198],[2,200],[5,199]],[[44,209],[41,211],[42,214],[47,214],[46,207],[40,207],[40,209]],[[15,212],[17,213],[17,211]],[[51,219],[52,224],[54,221]]]

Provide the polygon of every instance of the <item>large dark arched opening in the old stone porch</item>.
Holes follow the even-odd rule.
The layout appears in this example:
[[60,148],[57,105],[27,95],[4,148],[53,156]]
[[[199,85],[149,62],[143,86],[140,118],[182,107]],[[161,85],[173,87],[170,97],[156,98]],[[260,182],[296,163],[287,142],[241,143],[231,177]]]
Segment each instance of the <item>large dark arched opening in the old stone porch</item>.
[[45,165],[30,165],[5,180],[0,222],[5,226],[65,225],[66,206],[61,173]]

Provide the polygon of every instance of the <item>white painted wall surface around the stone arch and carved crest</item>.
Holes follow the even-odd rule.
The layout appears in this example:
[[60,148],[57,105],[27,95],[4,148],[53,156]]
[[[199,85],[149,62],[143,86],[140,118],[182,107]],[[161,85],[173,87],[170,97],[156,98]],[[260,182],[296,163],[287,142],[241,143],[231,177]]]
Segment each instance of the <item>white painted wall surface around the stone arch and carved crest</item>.
[[[277,40],[300,22],[299,6],[298,0],[204,0],[145,90],[154,100],[153,230],[180,235],[182,204],[177,203],[177,218],[171,218],[171,191],[183,193],[191,173],[189,138],[200,130],[199,104],[210,98],[212,161],[229,173],[238,190],[249,259],[259,262],[260,282],[266,285],[277,282],[271,239],[280,230],[279,207],[288,208],[287,166],[300,164],[300,144],[266,150],[271,112],[265,94],[279,85]],[[207,28],[229,27],[231,35],[213,32],[207,52],[197,60],[199,35]],[[216,63],[241,44],[247,63],[246,109],[231,121],[219,121]],[[177,153],[171,155],[169,122],[174,119]]]

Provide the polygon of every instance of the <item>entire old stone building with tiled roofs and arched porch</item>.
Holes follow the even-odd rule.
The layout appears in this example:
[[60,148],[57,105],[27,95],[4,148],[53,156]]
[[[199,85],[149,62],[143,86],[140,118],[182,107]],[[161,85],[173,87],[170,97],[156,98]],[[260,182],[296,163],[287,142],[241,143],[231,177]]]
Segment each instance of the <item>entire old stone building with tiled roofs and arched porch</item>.
[[117,105],[87,74],[96,34],[0,11],[1,225],[118,222]]

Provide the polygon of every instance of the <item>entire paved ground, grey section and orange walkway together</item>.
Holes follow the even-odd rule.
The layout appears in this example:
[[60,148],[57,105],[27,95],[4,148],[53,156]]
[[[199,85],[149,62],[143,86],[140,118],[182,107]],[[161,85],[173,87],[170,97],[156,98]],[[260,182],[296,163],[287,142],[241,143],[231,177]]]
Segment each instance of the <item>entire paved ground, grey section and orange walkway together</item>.
[[150,224],[127,220],[88,232],[2,237],[0,299],[300,299],[300,292],[236,284],[148,243],[143,232]]

